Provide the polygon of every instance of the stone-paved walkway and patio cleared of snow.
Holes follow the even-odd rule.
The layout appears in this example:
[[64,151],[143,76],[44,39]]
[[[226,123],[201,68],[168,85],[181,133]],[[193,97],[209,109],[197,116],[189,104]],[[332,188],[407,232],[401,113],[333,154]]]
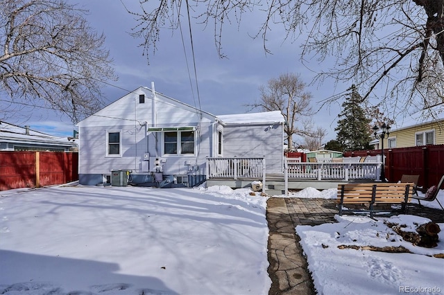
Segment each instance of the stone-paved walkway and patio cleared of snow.
[[[316,294],[295,227],[335,222],[334,215],[338,213],[338,209],[334,202],[334,199],[268,199],[268,275],[272,281],[268,294]],[[444,222],[443,211],[417,204],[409,206],[408,214],[428,217],[434,222]]]

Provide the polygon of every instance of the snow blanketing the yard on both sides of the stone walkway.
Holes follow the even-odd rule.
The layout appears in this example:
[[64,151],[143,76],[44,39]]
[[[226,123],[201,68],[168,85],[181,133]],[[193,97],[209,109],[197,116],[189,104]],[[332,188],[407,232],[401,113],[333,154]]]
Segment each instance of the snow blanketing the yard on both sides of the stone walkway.
[[[336,190],[307,188],[289,197],[332,199]],[[444,201],[444,190],[438,198]],[[0,294],[268,294],[266,199],[225,186],[3,191]],[[409,230],[429,220],[336,220],[296,227],[318,294],[444,292],[444,259],[431,257],[444,253],[443,231],[438,247],[426,249],[384,224]],[[412,253],[339,245],[403,246]]]

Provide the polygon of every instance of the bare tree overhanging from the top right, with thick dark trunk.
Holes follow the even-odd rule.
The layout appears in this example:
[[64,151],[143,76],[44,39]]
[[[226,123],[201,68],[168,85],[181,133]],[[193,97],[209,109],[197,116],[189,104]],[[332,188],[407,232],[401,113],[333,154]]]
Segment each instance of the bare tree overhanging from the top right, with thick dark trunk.
[[191,15],[214,26],[216,48],[223,56],[224,26],[240,24],[253,12],[263,17],[254,37],[262,37],[266,52],[271,27],[282,26],[284,39],[294,41],[302,32],[307,36],[302,61],[316,55],[319,62],[334,62],[331,69],[323,66],[318,82],[329,77],[352,82],[366,89],[363,100],[376,98],[392,111],[407,106],[444,109],[443,0],[139,1],[142,10],[133,12],[138,21],[133,35],[144,39],[145,50],[155,50],[162,28],[174,30],[181,15]]

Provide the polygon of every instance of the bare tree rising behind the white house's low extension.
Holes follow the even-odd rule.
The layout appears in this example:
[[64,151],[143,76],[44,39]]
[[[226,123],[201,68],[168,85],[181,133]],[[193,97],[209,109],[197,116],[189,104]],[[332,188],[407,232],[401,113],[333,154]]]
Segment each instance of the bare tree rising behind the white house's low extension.
[[266,87],[259,89],[259,102],[247,105],[262,111],[281,111],[287,121],[284,132],[287,134],[289,150],[293,148],[293,134],[311,135],[311,93],[306,92],[305,87],[299,75],[285,73],[277,79],[268,80]]

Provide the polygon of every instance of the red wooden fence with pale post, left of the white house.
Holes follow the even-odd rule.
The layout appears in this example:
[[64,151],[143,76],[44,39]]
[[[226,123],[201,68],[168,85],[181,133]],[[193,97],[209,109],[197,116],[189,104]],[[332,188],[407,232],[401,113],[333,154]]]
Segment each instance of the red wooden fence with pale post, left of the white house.
[[0,190],[78,180],[77,152],[0,152]]

